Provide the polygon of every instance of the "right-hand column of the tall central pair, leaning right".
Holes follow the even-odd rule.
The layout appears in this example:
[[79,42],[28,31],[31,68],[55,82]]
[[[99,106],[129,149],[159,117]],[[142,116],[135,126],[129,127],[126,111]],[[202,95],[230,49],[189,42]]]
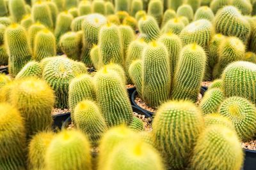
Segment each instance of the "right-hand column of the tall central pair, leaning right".
[[196,102],[204,78],[205,64],[206,55],[201,46],[195,43],[184,46],[175,68],[171,94],[173,99]]

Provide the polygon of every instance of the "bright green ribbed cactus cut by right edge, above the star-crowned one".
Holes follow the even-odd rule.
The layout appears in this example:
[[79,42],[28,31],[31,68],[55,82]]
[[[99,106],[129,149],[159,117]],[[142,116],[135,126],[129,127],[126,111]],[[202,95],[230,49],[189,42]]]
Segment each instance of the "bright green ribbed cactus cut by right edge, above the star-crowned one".
[[256,104],[256,64],[237,61],[223,71],[223,90],[227,97],[240,96]]

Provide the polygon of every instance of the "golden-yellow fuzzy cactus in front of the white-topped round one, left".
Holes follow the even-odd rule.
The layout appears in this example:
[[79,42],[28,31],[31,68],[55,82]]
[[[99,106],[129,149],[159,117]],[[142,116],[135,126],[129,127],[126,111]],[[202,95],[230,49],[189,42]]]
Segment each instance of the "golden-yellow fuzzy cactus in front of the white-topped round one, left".
[[10,92],[10,103],[24,117],[27,139],[38,131],[51,129],[54,93],[45,81],[37,78],[18,81]]

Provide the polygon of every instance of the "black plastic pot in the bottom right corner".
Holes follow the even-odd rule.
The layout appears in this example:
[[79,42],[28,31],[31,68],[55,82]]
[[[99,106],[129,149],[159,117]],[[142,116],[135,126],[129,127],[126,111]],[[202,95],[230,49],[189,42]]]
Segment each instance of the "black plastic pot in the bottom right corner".
[[245,152],[245,159],[244,159],[243,170],[255,170],[256,169],[256,151],[244,149],[244,152]]

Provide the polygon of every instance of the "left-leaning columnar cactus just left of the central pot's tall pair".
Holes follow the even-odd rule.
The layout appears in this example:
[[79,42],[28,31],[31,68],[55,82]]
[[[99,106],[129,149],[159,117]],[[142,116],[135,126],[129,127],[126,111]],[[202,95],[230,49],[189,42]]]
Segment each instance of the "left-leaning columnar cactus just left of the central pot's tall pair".
[[97,102],[108,127],[129,125],[132,121],[132,107],[120,75],[104,67],[95,74],[95,89]]

